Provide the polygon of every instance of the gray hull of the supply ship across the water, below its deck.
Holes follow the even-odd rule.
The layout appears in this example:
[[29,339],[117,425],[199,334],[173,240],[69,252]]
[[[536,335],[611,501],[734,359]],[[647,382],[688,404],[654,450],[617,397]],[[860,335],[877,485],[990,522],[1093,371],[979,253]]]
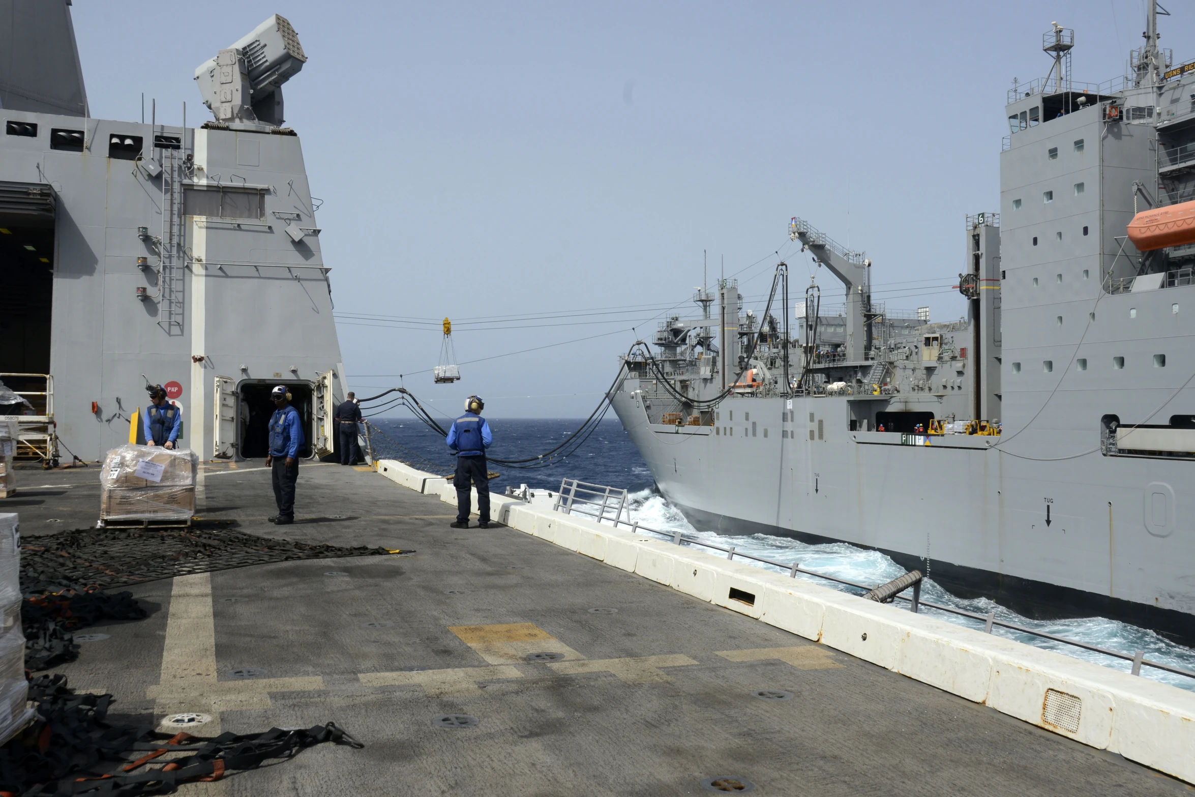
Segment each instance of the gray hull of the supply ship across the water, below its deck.
[[847,417],[845,397],[731,398],[713,427],[680,428],[650,423],[645,403],[633,379],[614,396],[660,492],[701,529],[850,542],[960,597],[1195,642],[1195,552],[1185,535],[1151,534],[1128,486],[1183,479],[1187,462],[1015,460],[993,448],[999,437],[966,435],[902,445],[827,423]]

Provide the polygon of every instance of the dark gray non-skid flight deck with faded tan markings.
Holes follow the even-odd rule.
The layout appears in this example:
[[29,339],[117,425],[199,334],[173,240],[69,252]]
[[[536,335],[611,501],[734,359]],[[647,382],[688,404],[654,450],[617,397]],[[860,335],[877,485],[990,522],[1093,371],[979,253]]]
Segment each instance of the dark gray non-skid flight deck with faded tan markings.
[[[202,735],[333,721],[366,744],[180,793],[698,795],[722,775],[760,795],[1190,791],[529,535],[452,529],[451,507],[368,470],[302,466],[296,522],[275,527],[262,462],[201,468],[202,517],[416,553],[145,583],[147,619],[85,630],[108,638],[53,672],[114,693],[116,719],[208,713]],[[22,471],[4,509],[26,538],[91,526],[98,482]]]

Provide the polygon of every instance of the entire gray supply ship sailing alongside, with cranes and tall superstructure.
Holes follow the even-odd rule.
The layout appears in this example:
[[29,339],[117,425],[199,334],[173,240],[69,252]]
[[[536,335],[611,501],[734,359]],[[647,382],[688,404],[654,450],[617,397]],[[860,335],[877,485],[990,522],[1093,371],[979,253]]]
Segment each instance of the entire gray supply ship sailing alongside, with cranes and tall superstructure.
[[962,235],[966,318],[888,313],[871,260],[793,219],[841,315],[810,287],[789,330],[782,264],[761,317],[722,281],[625,358],[614,407],[694,522],[1195,638],[1195,245],[1127,232],[1195,198],[1195,63],[1158,48],[1157,8],[1124,78],[1073,82],[1072,44],[1055,25],[1047,78],[1009,92],[1000,211]]

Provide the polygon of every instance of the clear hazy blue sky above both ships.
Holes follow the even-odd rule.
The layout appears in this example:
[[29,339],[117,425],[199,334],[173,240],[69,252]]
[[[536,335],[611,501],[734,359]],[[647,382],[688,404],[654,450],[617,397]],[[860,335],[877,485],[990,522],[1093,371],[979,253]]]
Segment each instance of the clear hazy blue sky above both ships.
[[[1195,11],[1171,5],[1162,44],[1184,62]],[[195,67],[287,17],[308,55],[287,123],[325,201],[350,386],[411,374],[446,413],[479,393],[496,417],[577,417],[667,308],[695,311],[703,250],[749,305],[777,251],[802,292],[793,215],[866,250],[876,300],[957,318],[963,220],[999,208],[1012,79],[1046,74],[1052,20],[1076,30],[1076,80],[1121,74],[1144,7],[75,0],[74,22],[94,116],[139,119],[143,91],[194,125],[210,118]],[[464,379],[437,386],[445,315]]]

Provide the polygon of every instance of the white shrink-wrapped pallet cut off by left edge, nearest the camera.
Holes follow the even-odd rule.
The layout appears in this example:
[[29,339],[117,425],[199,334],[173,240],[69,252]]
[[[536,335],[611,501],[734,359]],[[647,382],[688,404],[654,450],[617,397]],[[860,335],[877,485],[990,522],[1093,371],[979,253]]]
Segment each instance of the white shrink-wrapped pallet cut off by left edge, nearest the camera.
[[20,631],[20,528],[17,515],[0,514],[0,744],[33,717],[26,707],[25,634]]

